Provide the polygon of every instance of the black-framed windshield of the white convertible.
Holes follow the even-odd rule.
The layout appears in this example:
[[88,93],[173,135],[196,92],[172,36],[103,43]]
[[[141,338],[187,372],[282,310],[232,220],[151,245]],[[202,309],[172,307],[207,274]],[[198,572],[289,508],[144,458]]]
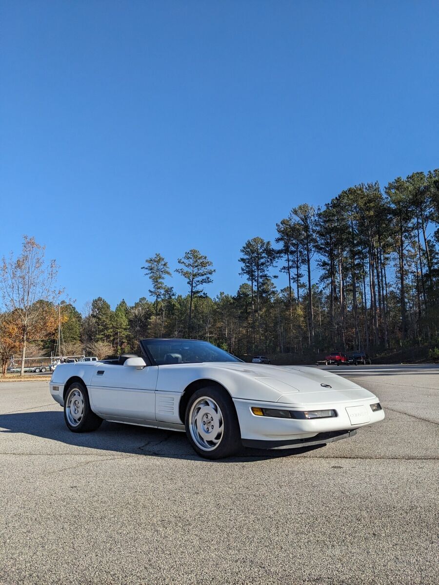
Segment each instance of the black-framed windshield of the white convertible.
[[157,366],[202,362],[241,362],[219,347],[197,339],[143,339]]

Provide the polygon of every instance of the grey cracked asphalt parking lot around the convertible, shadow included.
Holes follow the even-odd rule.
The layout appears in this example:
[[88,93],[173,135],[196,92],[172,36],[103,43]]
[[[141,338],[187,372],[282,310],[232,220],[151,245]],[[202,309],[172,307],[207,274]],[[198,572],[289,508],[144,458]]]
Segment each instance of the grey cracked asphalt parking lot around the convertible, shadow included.
[[47,381],[0,384],[0,583],[437,583],[439,366],[333,369],[383,422],[219,462],[181,433],[75,435]]

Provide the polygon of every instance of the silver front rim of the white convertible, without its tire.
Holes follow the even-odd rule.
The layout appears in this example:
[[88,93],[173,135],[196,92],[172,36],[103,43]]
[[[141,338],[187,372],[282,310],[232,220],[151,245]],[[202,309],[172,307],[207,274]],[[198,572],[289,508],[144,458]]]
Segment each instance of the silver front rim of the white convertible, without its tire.
[[224,433],[224,420],[217,402],[208,396],[198,398],[189,412],[189,429],[198,448],[216,449]]

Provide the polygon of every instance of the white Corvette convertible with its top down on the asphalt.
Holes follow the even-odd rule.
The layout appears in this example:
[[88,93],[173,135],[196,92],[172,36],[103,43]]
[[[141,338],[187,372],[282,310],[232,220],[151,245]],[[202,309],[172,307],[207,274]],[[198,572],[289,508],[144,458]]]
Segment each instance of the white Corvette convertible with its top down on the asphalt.
[[50,394],[73,432],[102,420],[186,431],[209,459],[355,435],[384,418],[365,388],[313,367],[248,364],[194,339],[143,339],[142,357],[60,364]]

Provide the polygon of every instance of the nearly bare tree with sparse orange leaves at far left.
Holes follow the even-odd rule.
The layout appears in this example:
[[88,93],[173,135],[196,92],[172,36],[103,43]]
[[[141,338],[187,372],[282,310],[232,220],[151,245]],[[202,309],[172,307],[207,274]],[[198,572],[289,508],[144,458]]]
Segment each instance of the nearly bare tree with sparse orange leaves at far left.
[[44,263],[45,246],[35,238],[24,236],[20,256],[3,257],[0,290],[7,311],[15,312],[20,326],[22,360],[20,376],[25,373],[26,345],[32,338],[33,329],[40,328],[47,311],[47,302],[56,302],[61,295],[54,288],[58,267],[55,260]]

